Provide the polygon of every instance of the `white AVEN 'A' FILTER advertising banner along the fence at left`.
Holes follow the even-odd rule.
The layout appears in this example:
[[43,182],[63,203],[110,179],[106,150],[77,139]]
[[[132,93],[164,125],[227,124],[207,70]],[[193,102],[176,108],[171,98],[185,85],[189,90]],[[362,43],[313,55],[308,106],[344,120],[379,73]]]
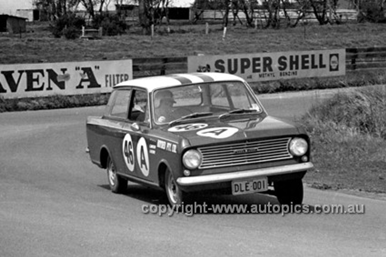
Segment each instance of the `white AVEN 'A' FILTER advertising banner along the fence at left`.
[[133,78],[132,60],[0,65],[3,98],[107,93]]

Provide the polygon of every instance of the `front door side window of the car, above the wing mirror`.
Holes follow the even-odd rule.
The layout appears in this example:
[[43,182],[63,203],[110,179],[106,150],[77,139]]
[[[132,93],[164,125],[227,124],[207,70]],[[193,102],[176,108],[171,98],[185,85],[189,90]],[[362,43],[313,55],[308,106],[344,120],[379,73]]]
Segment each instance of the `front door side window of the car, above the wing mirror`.
[[147,104],[147,92],[133,90],[132,104],[130,105],[129,120],[149,123],[149,108]]

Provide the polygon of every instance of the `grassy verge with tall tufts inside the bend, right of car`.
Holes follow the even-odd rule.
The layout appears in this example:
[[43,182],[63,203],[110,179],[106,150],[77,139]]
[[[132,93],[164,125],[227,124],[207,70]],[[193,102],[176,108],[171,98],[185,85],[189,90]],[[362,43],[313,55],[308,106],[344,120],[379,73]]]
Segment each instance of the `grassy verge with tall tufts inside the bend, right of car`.
[[337,93],[299,122],[312,141],[315,169],[305,181],[319,189],[386,193],[386,88]]

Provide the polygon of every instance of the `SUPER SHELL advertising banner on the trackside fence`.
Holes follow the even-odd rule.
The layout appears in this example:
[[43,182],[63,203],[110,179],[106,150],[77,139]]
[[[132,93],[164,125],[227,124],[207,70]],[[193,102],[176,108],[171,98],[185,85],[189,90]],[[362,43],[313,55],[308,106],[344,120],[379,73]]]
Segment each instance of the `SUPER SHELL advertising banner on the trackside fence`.
[[235,74],[247,81],[340,76],[345,49],[189,56],[188,71]]

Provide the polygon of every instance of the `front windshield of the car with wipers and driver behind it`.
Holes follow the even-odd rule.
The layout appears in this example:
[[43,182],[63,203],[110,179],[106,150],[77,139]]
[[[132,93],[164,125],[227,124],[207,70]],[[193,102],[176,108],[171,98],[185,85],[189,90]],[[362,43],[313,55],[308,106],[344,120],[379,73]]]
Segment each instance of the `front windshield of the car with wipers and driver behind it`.
[[211,116],[248,115],[262,111],[251,91],[240,81],[157,90],[153,94],[153,108],[154,122],[157,124]]

